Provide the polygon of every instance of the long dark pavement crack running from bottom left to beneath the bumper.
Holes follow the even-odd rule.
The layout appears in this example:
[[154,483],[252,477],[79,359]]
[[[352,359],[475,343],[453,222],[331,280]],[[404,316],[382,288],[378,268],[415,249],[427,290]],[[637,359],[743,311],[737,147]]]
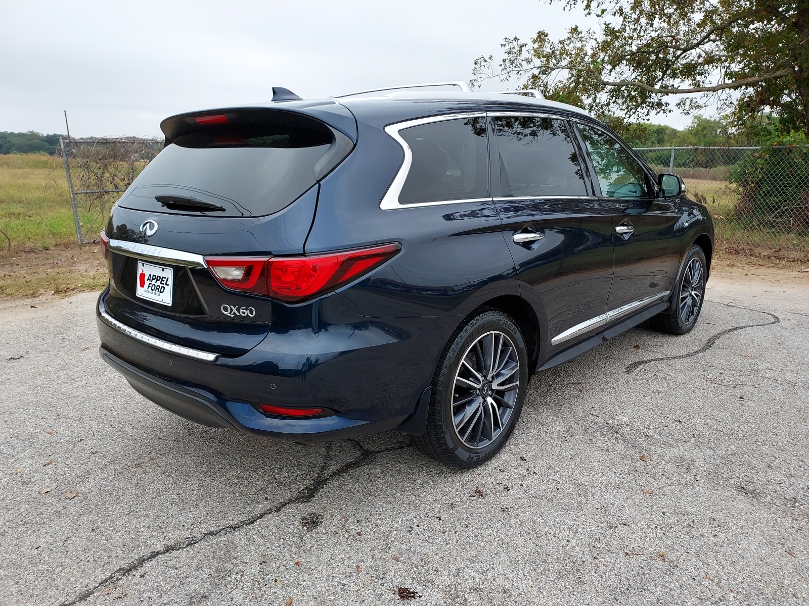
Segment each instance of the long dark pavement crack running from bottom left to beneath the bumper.
[[150,551],[149,553],[145,553],[139,558],[134,559],[129,564],[125,566],[121,566],[121,568],[115,570],[111,574],[108,574],[104,579],[100,580],[99,583],[96,583],[93,587],[83,591],[78,596],[76,596],[73,600],[69,602],[62,602],[61,606],[74,606],[74,604],[78,604],[79,602],[83,602],[87,600],[92,595],[95,594],[96,591],[101,589],[102,587],[111,585],[112,583],[117,583],[121,579],[123,579],[128,574],[133,573],[135,570],[138,570],[141,566],[146,564],[146,562],[150,562],[159,556],[162,556],[166,553],[172,553],[175,551],[180,551],[181,549],[187,549],[188,547],[192,547],[193,545],[197,545],[197,543],[201,543],[207,539],[216,537],[218,534],[227,531],[239,530],[251,524],[255,524],[259,520],[262,520],[266,516],[269,516],[274,513],[278,513],[282,511],[282,509],[289,507],[295,503],[308,503],[311,499],[314,499],[316,494],[320,492],[329,482],[333,479],[340,477],[344,473],[348,473],[353,469],[358,469],[363,465],[367,465],[373,459],[384,452],[392,452],[394,450],[401,450],[402,448],[407,448],[409,444],[403,444],[401,446],[393,446],[392,448],[382,448],[381,450],[369,450],[365,448],[362,444],[359,443],[358,440],[351,440],[354,445],[359,450],[359,457],[354,459],[353,461],[349,461],[344,465],[341,465],[337,469],[334,469],[330,473],[326,473],[326,469],[328,467],[329,462],[332,461],[331,457],[331,448],[327,446],[324,452],[324,460],[323,463],[320,465],[320,469],[318,469],[315,479],[309,482],[306,486],[303,486],[297,494],[290,497],[289,499],[284,499],[283,501],[279,501],[278,503],[274,504],[271,507],[268,507],[265,510],[259,511],[258,513],[245,518],[244,520],[240,520],[239,522],[235,522],[233,524],[227,524],[226,526],[222,526],[220,528],[214,528],[214,530],[209,530],[207,532],[201,532],[193,537],[185,537],[181,541],[176,541],[175,543],[170,543],[169,545],[163,545],[160,549],[155,549],[155,551]]

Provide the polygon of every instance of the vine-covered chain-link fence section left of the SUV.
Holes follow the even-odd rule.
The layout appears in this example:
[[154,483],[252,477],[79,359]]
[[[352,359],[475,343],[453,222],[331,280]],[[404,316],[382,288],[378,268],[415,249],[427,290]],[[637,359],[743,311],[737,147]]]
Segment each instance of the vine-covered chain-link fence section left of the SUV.
[[163,139],[59,139],[79,244],[98,242],[109,209],[163,148]]

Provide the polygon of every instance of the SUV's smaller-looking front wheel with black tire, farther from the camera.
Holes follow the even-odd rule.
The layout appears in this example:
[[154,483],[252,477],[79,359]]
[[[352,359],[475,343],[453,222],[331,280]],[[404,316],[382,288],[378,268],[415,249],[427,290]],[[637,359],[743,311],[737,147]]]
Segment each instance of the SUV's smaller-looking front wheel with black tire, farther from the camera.
[[[699,279],[695,280],[695,271],[699,271]],[[705,281],[708,276],[708,263],[705,251],[696,244],[685,255],[680,279],[671,297],[671,306],[650,319],[654,330],[671,335],[685,335],[697,324],[705,301]]]

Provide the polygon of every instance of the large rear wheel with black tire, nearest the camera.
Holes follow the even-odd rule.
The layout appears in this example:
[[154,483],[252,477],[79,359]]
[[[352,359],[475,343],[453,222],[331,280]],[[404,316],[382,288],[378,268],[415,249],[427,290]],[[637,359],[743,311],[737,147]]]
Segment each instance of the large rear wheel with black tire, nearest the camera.
[[[496,360],[483,353],[489,339],[491,350],[498,351]],[[502,370],[493,368],[497,366]],[[476,379],[473,373],[484,368],[489,368],[489,373],[479,374],[481,378]],[[514,374],[517,379],[510,379]],[[477,392],[464,376],[480,384]],[[500,389],[513,382],[515,387]],[[523,410],[527,382],[525,340],[516,322],[499,309],[481,311],[456,329],[444,348],[433,377],[426,431],[414,436],[413,444],[450,467],[472,469],[481,465],[500,451],[514,431]],[[468,400],[470,397],[474,399]],[[475,411],[470,412],[472,409]],[[460,423],[460,430],[456,423]],[[462,432],[466,435],[461,436]]]

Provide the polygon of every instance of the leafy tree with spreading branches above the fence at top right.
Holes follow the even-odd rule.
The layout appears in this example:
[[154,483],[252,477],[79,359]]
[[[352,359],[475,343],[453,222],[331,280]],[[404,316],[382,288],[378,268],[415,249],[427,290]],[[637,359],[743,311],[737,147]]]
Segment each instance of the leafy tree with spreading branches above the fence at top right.
[[673,107],[709,105],[732,112],[736,125],[771,112],[787,131],[809,128],[809,0],[549,2],[581,6],[599,30],[507,38],[499,61],[477,58],[473,82],[516,81],[614,116],[621,130]]

